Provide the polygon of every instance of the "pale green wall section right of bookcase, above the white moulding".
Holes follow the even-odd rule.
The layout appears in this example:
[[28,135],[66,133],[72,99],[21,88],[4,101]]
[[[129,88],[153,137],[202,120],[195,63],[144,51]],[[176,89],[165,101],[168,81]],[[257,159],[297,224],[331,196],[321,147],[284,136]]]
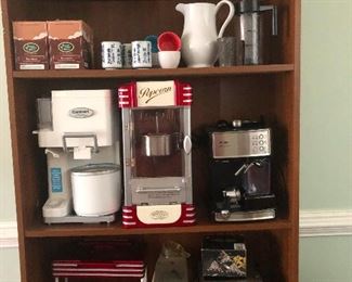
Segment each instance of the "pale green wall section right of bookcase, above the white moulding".
[[303,0],[301,29],[301,208],[352,208],[352,0]]

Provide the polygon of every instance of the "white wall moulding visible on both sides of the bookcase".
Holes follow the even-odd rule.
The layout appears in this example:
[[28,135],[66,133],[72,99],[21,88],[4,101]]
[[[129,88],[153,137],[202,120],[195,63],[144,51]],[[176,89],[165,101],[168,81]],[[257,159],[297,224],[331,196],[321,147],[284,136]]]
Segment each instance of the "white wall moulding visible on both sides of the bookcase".
[[[301,210],[299,235],[340,236],[352,235],[352,209]],[[18,247],[15,221],[0,221],[0,248]]]

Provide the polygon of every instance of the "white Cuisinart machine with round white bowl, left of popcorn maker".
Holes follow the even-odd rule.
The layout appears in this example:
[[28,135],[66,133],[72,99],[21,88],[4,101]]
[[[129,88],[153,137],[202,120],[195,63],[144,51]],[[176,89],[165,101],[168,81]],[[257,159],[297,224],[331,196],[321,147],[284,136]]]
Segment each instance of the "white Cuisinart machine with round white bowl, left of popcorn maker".
[[[38,130],[34,133],[45,150],[48,164],[49,197],[42,207],[45,223],[114,221],[121,187],[113,98],[112,90],[55,90],[51,98],[37,99]],[[112,197],[105,195],[104,203],[92,198],[94,190],[102,195],[106,191],[97,191],[95,182],[114,191]]]

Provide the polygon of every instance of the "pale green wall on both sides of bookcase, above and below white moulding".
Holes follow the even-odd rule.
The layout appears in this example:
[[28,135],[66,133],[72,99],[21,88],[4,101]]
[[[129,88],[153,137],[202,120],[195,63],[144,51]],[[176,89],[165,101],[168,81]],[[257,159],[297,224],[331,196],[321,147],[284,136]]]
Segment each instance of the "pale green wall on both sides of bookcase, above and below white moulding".
[[[302,0],[301,29],[301,209],[351,210],[352,0]],[[12,221],[15,208],[5,92],[1,36],[0,221]],[[352,236],[300,240],[301,282],[352,281],[351,266]],[[0,248],[0,282],[15,281],[19,281],[17,249]]]

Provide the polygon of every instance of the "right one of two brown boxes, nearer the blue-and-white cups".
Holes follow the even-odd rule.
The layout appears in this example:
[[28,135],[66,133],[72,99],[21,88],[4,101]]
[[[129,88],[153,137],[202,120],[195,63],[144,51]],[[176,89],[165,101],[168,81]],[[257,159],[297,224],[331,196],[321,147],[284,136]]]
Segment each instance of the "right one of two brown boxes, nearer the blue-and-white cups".
[[91,68],[93,31],[83,21],[48,22],[50,68]]

